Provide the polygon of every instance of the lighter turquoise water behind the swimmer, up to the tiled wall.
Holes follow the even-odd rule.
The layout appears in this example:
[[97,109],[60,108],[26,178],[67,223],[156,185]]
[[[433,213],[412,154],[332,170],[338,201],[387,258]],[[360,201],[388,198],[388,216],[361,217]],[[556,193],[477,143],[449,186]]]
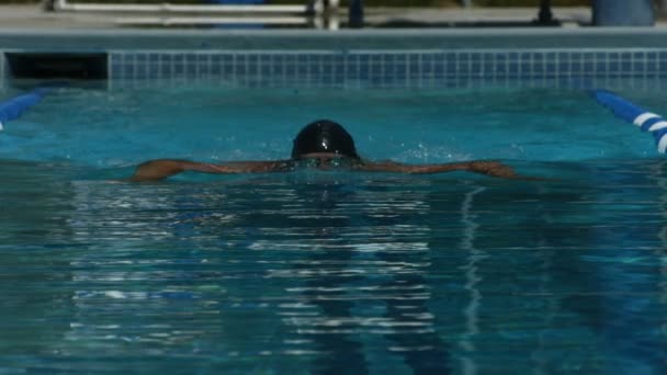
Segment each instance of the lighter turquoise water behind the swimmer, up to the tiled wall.
[[[10,94],[11,92],[8,92]],[[659,111],[648,93],[630,99]],[[0,156],[77,166],[150,158],[278,159],[305,124],[346,125],[371,159],[579,161],[655,157],[584,90],[319,90],[215,87],[57,90],[9,124]]]

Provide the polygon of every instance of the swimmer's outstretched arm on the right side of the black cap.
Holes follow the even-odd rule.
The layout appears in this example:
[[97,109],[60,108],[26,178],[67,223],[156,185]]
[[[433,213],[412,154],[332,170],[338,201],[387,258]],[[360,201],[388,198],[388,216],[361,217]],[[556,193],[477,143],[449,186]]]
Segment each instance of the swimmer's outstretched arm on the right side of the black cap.
[[498,161],[464,161],[443,164],[403,164],[394,161],[364,162],[359,170],[369,172],[396,172],[412,174],[445,173],[454,171],[474,172],[505,179],[520,179],[515,170]]

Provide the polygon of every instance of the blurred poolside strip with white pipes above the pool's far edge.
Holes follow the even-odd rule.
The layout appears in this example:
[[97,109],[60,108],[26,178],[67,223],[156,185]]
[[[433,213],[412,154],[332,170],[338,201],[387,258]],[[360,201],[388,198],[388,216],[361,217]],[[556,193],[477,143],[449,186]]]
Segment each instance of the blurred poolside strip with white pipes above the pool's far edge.
[[[176,7],[178,9],[173,7],[167,9],[162,5],[165,3],[179,7]],[[5,5],[0,12],[0,21],[4,26],[15,25],[21,16],[33,20],[33,23],[44,23],[46,19],[36,14],[36,10],[55,11],[56,13],[78,12],[77,22],[79,23],[84,21],[89,23],[112,22],[115,25],[125,26],[138,23],[162,26],[173,26],[176,23],[203,25],[213,24],[214,21],[216,21],[215,24],[238,26],[239,24],[250,24],[250,18],[247,16],[250,13],[252,15],[262,13],[261,19],[255,19],[258,22],[252,23],[252,27],[257,27],[258,24],[275,25],[279,22],[289,23],[291,26],[298,24],[299,27],[303,27],[302,24],[305,22],[308,27],[329,30],[370,26],[654,26],[664,24],[667,20],[667,0],[324,0],[324,2],[315,2],[315,0],[0,0],[0,4]],[[144,5],[138,7],[142,8],[139,13],[136,12],[137,4]],[[235,7],[227,7],[226,10],[191,7],[202,4],[291,7],[265,7],[263,10],[261,10],[262,7],[242,10]],[[272,12],[269,12],[268,8],[272,8]],[[292,10],[284,10],[286,8]],[[408,8],[410,10],[406,11]],[[229,12],[229,9],[236,10]],[[293,9],[297,9],[297,11]],[[31,11],[33,13],[30,13]],[[98,14],[126,12],[126,14],[122,19],[111,20],[109,16],[104,19],[101,15],[93,19],[93,16],[86,15],[87,12],[98,12]],[[148,12],[152,13],[148,14]],[[176,15],[177,12],[181,12],[180,16]],[[223,12],[228,13],[223,14]],[[191,16],[193,13],[199,13],[196,20]],[[246,14],[239,18],[241,13]],[[271,19],[264,16],[269,13],[272,14]],[[284,16],[275,16],[294,14],[301,19],[287,20]],[[306,16],[315,14],[318,19],[312,18],[304,21],[304,14]],[[139,15],[142,16],[139,18]],[[150,20],[148,20],[148,15],[151,16]],[[214,18],[216,20],[213,20]],[[48,22],[53,23],[54,20],[55,16]],[[60,21],[65,25],[65,18],[60,18]]]

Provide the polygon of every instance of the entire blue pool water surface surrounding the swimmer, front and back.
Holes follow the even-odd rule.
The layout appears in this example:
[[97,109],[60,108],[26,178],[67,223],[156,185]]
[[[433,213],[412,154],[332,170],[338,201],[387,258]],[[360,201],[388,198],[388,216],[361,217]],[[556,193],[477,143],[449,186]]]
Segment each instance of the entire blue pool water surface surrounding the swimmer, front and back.
[[[114,181],[283,158],[318,117],[549,180]],[[0,373],[662,374],[666,168],[575,90],[59,89],[0,134]]]

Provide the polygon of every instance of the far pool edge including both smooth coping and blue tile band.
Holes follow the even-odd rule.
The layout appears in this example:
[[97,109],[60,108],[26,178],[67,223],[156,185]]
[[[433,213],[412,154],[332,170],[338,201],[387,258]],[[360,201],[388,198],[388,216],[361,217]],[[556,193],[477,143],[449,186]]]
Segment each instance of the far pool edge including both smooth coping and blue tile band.
[[[638,82],[662,88],[667,80],[667,31],[654,29],[183,31],[179,35],[173,31],[122,31],[120,36],[113,35],[117,37],[110,38],[103,31],[27,33],[23,43],[14,37],[5,46],[7,37],[16,34],[0,31],[0,52],[104,52],[112,87],[206,82],[238,87],[590,88]],[[7,70],[5,59],[0,58],[0,79],[7,77]]]

